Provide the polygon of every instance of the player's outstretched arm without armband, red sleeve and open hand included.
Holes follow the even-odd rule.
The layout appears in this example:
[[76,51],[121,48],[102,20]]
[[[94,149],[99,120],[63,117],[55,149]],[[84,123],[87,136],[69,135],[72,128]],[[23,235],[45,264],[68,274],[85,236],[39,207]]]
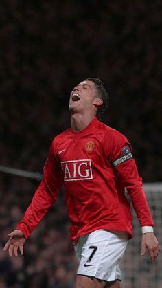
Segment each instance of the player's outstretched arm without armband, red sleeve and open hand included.
[[44,177],[38,189],[36,190],[30,206],[27,208],[23,219],[19,222],[10,236],[10,239],[5,244],[3,251],[9,252],[9,255],[18,255],[20,250],[23,254],[23,245],[25,239],[32,233],[34,228],[40,223],[41,219],[47,214],[49,208],[56,201],[59,188],[62,184],[62,172],[59,164],[54,157],[54,150],[51,145],[49,151],[49,159],[44,167]]

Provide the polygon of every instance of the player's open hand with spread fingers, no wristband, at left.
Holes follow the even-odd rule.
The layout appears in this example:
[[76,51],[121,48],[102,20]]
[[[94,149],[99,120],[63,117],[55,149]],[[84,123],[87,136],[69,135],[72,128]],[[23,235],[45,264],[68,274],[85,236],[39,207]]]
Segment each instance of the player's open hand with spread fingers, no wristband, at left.
[[21,255],[23,255],[23,245],[25,243],[25,237],[23,236],[23,232],[21,230],[14,230],[10,234],[10,239],[5,244],[3,248],[3,252],[8,250],[10,257],[14,254],[14,256],[18,256],[18,252],[20,251]]

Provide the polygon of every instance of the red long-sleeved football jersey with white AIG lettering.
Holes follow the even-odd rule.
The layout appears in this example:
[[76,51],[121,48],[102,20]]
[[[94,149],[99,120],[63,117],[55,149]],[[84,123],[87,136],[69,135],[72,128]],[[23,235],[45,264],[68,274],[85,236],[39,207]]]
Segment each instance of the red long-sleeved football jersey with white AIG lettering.
[[153,225],[142,180],[124,135],[93,119],[85,129],[67,129],[51,144],[44,177],[17,226],[25,237],[45,216],[64,184],[71,240],[97,229],[132,235],[131,198],[141,226]]

